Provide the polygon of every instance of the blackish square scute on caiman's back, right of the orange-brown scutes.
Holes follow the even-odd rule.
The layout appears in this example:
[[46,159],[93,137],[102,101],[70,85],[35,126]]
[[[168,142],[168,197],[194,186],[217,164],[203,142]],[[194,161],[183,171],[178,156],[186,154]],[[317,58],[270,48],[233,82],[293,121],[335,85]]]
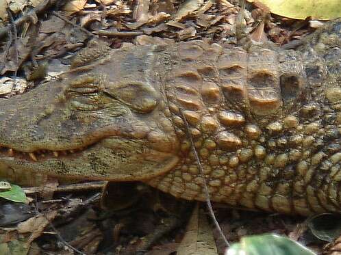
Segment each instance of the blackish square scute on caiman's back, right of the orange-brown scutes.
[[281,75],[279,85],[283,101],[292,101],[301,94],[302,81],[296,75]]

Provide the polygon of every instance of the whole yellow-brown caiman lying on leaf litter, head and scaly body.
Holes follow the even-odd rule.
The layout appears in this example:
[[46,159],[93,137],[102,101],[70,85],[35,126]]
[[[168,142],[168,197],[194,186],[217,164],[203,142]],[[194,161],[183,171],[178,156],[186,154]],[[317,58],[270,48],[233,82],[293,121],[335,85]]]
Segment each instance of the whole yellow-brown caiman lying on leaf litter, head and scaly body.
[[57,80],[0,100],[0,168],[201,201],[205,180],[231,206],[340,213],[340,71],[341,19],[296,50],[91,41]]

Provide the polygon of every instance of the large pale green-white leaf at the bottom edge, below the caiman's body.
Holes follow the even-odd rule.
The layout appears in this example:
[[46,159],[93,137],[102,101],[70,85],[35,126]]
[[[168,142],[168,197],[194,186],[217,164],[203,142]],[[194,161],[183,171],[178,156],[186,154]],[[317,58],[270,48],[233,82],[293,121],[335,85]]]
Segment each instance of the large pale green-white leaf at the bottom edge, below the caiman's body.
[[226,255],[315,255],[303,245],[277,234],[242,237],[240,243],[229,247]]

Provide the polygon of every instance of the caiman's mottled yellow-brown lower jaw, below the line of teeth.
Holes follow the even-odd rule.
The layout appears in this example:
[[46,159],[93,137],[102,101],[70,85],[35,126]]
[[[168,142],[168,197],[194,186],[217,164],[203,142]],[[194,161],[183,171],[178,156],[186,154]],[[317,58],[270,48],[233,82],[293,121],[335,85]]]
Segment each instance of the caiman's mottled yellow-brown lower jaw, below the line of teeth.
[[146,146],[146,141],[111,137],[81,152],[68,155],[27,155],[9,157],[0,154],[1,169],[35,172],[51,176],[69,176],[93,180],[144,180],[164,174],[178,161],[173,153],[159,152]]

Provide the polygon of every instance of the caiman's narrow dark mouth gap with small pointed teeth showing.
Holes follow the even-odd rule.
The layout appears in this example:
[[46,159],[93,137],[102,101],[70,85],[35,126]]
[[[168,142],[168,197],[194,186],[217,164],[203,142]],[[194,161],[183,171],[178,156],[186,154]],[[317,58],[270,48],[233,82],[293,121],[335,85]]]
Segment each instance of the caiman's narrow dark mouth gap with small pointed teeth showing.
[[20,150],[14,150],[13,148],[0,146],[0,155],[7,155],[8,157],[22,157],[23,159],[37,162],[40,160],[50,159],[51,157],[60,158],[60,157],[68,157],[70,155],[77,155],[79,152],[84,152],[88,148],[94,146],[94,144],[90,144],[84,147],[69,149],[69,150],[41,149],[41,150],[34,150],[32,152],[23,152]]

